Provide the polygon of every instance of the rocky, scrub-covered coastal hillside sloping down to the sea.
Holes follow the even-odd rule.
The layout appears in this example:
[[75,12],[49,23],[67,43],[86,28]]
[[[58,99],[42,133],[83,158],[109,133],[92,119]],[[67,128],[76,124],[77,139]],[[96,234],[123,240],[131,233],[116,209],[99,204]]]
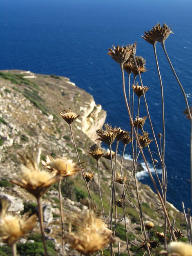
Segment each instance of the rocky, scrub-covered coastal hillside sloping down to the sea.
[[[59,112],[63,109],[71,108],[80,117],[72,124],[73,135],[76,141],[77,151],[82,163],[83,170],[92,170],[93,180],[89,182],[89,189],[92,200],[101,210],[98,191],[98,174],[96,161],[88,154],[90,146],[98,143],[96,141],[96,130],[105,124],[106,111],[101,105],[97,105],[92,95],[78,88],[68,78],[63,76],[34,74],[22,70],[2,70],[0,71],[0,194],[11,200],[9,211],[23,214],[27,211],[37,212],[35,198],[20,189],[20,187],[10,183],[10,180],[20,173],[20,159],[18,153],[25,152],[39,153],[41,160],[45,161],[46,155],[51,157],[68,157],[74,162],[78,162],[71,138],[69,125],[62,119]],[[101,145],[105,146],[106,145]],[[101,158],[98,162],[100,169],[100,184],[103,195],[103,207],[106,219],[109,205],[111,181],[110,161]],[[120,170],[121,157],[117,157],[117,169]],[[138,165],[138,171],[141,170]],[[132,161],[123,161],[123,173],[129,178],[132,171]],[[121,184],[116,184],[116,198],[121,199]],[[159,199],[152,189],[138,182],[138,191],[142,200],[143,218],[145,221],[154,222],[156,231],[163,231],[164,214],[161,209]],[[72,213],[80,213],[86,209],[85,200],[88,198],[87,189],[82,174],[67,177],[62,182],[62,194],[64,205],[65,231],[67,232],[67,217]],[[143,255],[143,249],[137,249],[141,241],[137,236],[140,234],[140,220],[138,217],[137,196],[135,191],[134,177],[131,178],[126,198],[127,229],[131,250],[133,254]],[[83,203],[84,201],[84,203]],[[42,198],[44,209],[44,222],[46,239],[49,241],[49,254],[61,255],[61,227],[59,218],[59,200],[57,185],[52,186]],[[183,231],[185,240],[185,226],[183,214],[167,203],[169,216],[175,220],[175,229]],[[117,252],[118,242],[122,248],[126,249],[125,227],[123,226],[123,209],[118,208],[117,227],[114,251]],[[131,225],[130,225],[131,222]],[[133,226],[133,228],[131,227]],[[22,238],[18,243],[20,255],[44,255],[25,254],[24,247],[31,244],[40,243],[39,227],[29,235]],[[151,233],[155,236],[155,233]],[[31,242],[32,241],[32,242]],[[0,244],[1,255],[10,255],[6,245]],[[38,246],[40,246],[38,244]],[[65,244],[67,255],[80,255],[72,250],[69,244]],[[23,251],[22,251],[23,250]],[[33,252],[32,252],[33,251]],[[56,254],[57,252],[57,254]],[[140,254],[141,252],[141,254]],[[104,255],[110,255],[105,250]],[[123,255],[123,254],[122,254]]]

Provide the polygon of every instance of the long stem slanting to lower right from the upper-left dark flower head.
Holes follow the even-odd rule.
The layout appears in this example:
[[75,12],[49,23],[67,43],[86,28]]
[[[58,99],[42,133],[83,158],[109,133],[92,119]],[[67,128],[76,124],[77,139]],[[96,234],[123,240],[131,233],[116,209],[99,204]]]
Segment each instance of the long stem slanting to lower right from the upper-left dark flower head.
[[[135,59],[135,58],[134,58],[134,59]],[[135,61],[135,62],[136,62],[136,61]],[[136,65],[137,65],[137,64],[136,64]],[[137,66],[137,67],[138,67],[138,66]],[[168,216],[168,213],[167,213],[167,209],[166,209],[166,207],[165,207],[165,205],[164,205],[163,198],[161,197],[161,194],[159,193],[159,190],[158,190],[158,188],[157,188],[157,186],[156,186],[156,182],[154,181],[154,178],[153,178],[153,176],[152,176],[152,173],[151,173],[151,171],[150,171],[150,168],[149,168],[149,166],[148,166],[148,164],[147,164],[147,160],[146,160],[146,158],[145,158],[145,155],[144,155],[144,153],[143,153],[143,149],[141,148],[141,145],[140,145],[139,140],[138,140],[138,136],[137,136],[137,134],[136,134],[136,130],[135,130],[135,128],[134,128],[133,119],[132,119],[132,116],[131,116],[131,112],[130,112],[130,109],[129,109],[129,105],[128,105],[127,97],[126,97],[126,93],[125,93],[125,77],[124,77],[123,65],[122,65],[122,64],[121,64],[121,72],[122,72],[122,81],[123,81],[123,94],[124,94],[124,98],[125,98],[125,103],[126,103],[126,107],[127,107],[129,119],[130,119],[131,124],[132,124],[132,126],[133,126],[134,134],[136,135],[136,140],[137,140],[138,146],[139,146],[139,148],[140,148],[140,150],[141,150],[141,155],[142,155],[142,157],[143,157],[143,161],[145,162],[145,166],[146,166],[147,171],[148,171],[148,173],[149,173],[149,175],[150,175],[150,178],[151,178],[151,180],[152,180],[154,189],[156,190],[156,193],[157,193],[157,195],[158,195],[158,197],[159,197],[159,200],[160,200],[160,202],[161,202],[161,204],[162,204],[163,211],[166,213],[166,218],[167,218],[168,227],[169,227],[169,229],[170,229],[170,232],[172,232],[171,222],[170,222],[170,219],[169,219],[169,216]],[[139,71],[138,71],[138,72],[139,72]],[[140,73],[139,73],[139,74],[140,74]],[[140,75],[140,77],[141,77],[141,75]],[[141,79],[141,81],[142,81],[142,79]],[[143,83],[142,83],[142,85],[143,85]],[[142,88],[143,88],[143,86],[142,86]],[[143,94],[144,94],[144,92],[143,92]],[[144,94],[144,95],[145,95],[145,94]],[[144,96],[144,95],[143,95],[143,96]],[[153,130],[153,132],[154,132],[154,130]],[[155,139],[156,139],[156,138],[155,138]],[[159,150],[159,147],[158,147],[158,150]],[[159,152],[159,155],[160,155],[160,152]],[[161,155],[160,155],[160,157],[161,157]],[[175,237],[174,234],[173,234],[173,239],[176,241],[176,237]],[[148,244],[147,244],[147,245],[148,245]]]

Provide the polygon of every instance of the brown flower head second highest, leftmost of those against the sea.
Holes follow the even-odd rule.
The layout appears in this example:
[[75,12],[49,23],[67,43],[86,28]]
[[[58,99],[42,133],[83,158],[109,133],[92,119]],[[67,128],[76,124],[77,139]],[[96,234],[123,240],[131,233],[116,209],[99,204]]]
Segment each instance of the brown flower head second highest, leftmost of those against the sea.
[[125,63],[130,55],[132,54],[132,46],[131,45],[126,45],[125,47],[123,46],[116,46],[112,45],[112,48],[109,48],[108,55],[110,55],[114,61],[116,61],[119,64]]

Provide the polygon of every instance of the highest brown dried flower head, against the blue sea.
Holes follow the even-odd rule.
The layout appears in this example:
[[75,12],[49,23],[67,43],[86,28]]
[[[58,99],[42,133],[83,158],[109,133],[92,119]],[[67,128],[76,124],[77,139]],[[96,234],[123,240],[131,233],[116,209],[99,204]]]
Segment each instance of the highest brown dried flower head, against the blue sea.
[[145,35],[142,36],[148,43],[154,45],[156,42],[163,43],[167,37],[173,33],[172,29],[163,23],[163,27],[158,23],[150,31],[144,32]]

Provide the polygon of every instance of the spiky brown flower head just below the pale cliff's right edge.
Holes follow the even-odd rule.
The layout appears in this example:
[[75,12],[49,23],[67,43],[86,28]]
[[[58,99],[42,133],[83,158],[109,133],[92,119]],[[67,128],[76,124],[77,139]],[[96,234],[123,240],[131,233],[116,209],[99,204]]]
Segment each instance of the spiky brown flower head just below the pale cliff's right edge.
[[116,138],[117,132],[109,124],[104,124],[104,129],[96,130],[98,140],[103,141],[107,145],[111,145]]

